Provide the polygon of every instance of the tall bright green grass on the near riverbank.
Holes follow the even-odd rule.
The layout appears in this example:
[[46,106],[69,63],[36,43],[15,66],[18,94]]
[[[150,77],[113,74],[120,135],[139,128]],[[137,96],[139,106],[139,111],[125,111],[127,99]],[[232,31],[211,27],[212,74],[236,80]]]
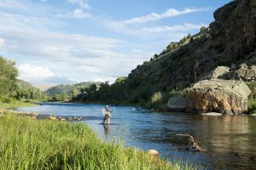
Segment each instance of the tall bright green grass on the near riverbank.
[[189,169],[122,144],[85,124],[0,116],[0,169]]

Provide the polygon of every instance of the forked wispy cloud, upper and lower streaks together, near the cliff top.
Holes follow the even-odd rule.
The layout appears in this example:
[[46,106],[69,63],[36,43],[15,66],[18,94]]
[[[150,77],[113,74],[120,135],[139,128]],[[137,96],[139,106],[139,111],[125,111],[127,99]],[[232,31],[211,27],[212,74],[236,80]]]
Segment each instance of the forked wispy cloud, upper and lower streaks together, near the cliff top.
[[[160,14],[146,14],[144,16],[131,18],[130,20],[108,20],[105,22],[105,25],[112,31],[146,39],[166,37],[166,35],[168,35],[168,37],[177,37],[176,35],[183,35],[185,31],[186,34],[188,34],[188,31],[199,29],[201,26],[205,25],[183,23],[174,26],[152,26],[148,22],[157,22],[181,14],[190,14],[207,10],[207,8],[184,8],[183,10],[168,8],[164,13]],[[172,35],[170,36],[170,34]],[[176,40],[177,39],[174,39],[173,41]]]

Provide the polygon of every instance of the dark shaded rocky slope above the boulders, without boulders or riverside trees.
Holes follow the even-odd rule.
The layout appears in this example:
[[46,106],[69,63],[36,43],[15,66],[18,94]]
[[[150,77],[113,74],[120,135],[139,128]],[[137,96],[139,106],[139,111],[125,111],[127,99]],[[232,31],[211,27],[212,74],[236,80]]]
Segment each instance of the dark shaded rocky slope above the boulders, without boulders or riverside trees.
[[233,70],[256,65],[256,1],[233,1],[213,15],[209,28],[188,43],[131,71],[126,80],[131,96],[147,94],[147,100],[156,91],[187,87],[218,65]]

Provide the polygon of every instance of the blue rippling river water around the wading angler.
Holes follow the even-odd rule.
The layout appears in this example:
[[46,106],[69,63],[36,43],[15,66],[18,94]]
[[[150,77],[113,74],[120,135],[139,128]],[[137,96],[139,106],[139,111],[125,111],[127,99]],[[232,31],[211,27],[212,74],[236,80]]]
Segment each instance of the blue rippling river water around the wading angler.
[[[102,140],[122,140],[126,146],[158,150],[168,161],[199,164],[206,169],[256,169],[256,116],[201,116],[158,113],[133,106],[114,106],[109,126],[103,126],[104,105],[43,103],[18,108],[56,116],[84,116]],[[110,106],[112,109],[113,106]],[[186,150],[188,133],[207,152]]]

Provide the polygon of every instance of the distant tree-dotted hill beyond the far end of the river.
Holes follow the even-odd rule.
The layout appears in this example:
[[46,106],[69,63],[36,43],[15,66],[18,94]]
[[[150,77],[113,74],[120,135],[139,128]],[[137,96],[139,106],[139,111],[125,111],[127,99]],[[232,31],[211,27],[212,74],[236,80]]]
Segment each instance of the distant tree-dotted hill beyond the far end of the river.
[[69,96],[73,95],[73,91],[75,90],[76,93],[80,93],[81,89],[84,88],[89,88],[90,85],[92,84],[96,84],[97,87],[99,87],[99,85],[102,82],[79,82],[76,84],[60,84],[60,85],[56,85],[54,87],[48,88],[47,90],[44,91],[44,94],[50,96],[50,97],[54,97],[56,94],[67,94]]

